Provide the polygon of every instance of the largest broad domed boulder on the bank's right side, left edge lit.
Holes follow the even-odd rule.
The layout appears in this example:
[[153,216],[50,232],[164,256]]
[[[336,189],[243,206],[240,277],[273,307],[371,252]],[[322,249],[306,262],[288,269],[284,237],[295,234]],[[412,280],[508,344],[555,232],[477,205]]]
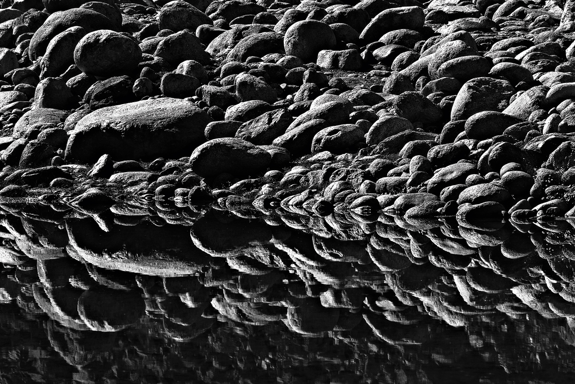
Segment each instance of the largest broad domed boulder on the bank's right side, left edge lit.
[[[507,80],[487,77],[471,79],[463,84],[461,90],[457,93],[457,97],[455,97],[451,109],[451,120],[463,120],[478,112],[489,110],[508,113],[511,108],[509,98],[514,92],[513,86]],[[512,104],[515,104],[515,102]],[[507,107],[508,105],[509,107]],[[523,117],[524,114],[522,116],[513,113],[508,114],[523,119],[529,117]]]

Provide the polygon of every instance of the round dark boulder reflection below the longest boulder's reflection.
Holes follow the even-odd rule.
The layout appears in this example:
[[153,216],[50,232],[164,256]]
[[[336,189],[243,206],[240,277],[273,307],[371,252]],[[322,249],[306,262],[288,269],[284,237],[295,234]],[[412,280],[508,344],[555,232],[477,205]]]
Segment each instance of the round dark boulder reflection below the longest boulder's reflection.
[[93,331],[120,331],[144,315],[144,300],[132,291],[109,288],[87,290],[78,300],[78,313]]

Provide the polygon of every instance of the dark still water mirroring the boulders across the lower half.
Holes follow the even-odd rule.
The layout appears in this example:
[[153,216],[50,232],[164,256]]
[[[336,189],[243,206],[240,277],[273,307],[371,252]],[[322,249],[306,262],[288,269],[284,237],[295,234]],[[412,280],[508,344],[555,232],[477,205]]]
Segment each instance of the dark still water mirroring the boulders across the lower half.
[[568,221],[0,208],[0,383],[573,382]]

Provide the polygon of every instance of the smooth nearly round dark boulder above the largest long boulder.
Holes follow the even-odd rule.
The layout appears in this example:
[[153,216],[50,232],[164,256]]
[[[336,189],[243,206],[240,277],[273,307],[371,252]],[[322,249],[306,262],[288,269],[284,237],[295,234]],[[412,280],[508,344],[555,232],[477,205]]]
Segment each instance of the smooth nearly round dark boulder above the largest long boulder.
[[74,62],[86,75],[109,78],[136,68],[142,51],[136,41],[113,30],[86,34],[74,49]]

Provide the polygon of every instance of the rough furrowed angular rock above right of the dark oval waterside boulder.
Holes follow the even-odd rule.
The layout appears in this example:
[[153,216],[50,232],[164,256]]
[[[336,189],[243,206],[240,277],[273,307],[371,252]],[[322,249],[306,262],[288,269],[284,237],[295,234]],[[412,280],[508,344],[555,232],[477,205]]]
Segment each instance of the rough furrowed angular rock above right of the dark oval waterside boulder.
[[235,137],[256,145],[271,144],[274,139],[286,132],[292,121],[293,118],[287,110],[276,109],[244,122]]

